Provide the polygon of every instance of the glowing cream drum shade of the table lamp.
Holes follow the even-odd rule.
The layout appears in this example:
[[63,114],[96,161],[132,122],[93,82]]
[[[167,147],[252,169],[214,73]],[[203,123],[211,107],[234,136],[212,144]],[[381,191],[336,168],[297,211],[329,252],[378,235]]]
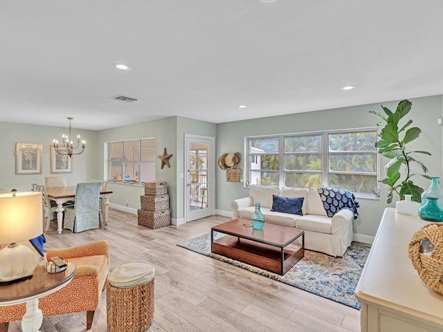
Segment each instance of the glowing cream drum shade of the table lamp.
[[43,233],[41,192],[0,194],[0,244],[34,239]]

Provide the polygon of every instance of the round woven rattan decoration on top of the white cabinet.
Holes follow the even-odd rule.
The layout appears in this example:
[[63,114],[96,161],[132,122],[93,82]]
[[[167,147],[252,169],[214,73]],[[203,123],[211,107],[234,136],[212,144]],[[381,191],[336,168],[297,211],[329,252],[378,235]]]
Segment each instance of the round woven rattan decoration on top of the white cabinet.
[[443,295],[443,225],[424,225],[408,245],[408,257],[424,283]]

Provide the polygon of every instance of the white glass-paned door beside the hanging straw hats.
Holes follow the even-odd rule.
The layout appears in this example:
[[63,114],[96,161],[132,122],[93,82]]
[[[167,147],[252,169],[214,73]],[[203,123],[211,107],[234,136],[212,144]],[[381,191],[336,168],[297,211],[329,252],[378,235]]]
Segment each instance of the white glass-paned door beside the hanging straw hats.
[[214,214],[214,138],[185,136],[186,222]]

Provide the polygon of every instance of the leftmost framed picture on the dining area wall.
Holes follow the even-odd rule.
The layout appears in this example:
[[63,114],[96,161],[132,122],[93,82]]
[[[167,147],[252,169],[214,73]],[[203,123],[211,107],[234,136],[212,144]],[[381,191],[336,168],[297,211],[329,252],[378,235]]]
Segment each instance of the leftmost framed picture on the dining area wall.
[[15,144],[15,174],[42,174],[43,145]]

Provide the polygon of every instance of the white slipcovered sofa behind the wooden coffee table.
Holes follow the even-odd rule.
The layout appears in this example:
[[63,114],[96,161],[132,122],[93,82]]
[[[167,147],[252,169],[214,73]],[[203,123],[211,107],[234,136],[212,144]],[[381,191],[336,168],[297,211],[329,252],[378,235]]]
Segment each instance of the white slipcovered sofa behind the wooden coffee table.
[[[273,195],[303,197],[303,215],[271,211]],[[327,216],[320,194],[316,189],[289,187],[280,189],[279,187],[253,185],[249,197],[233,201],[233,217],[251,219],[255,203],[260,203],[265,223],[275,223],[304,230],[307,250],[342,257],[351,244],[354,212],[343,208],[334,216]]]

